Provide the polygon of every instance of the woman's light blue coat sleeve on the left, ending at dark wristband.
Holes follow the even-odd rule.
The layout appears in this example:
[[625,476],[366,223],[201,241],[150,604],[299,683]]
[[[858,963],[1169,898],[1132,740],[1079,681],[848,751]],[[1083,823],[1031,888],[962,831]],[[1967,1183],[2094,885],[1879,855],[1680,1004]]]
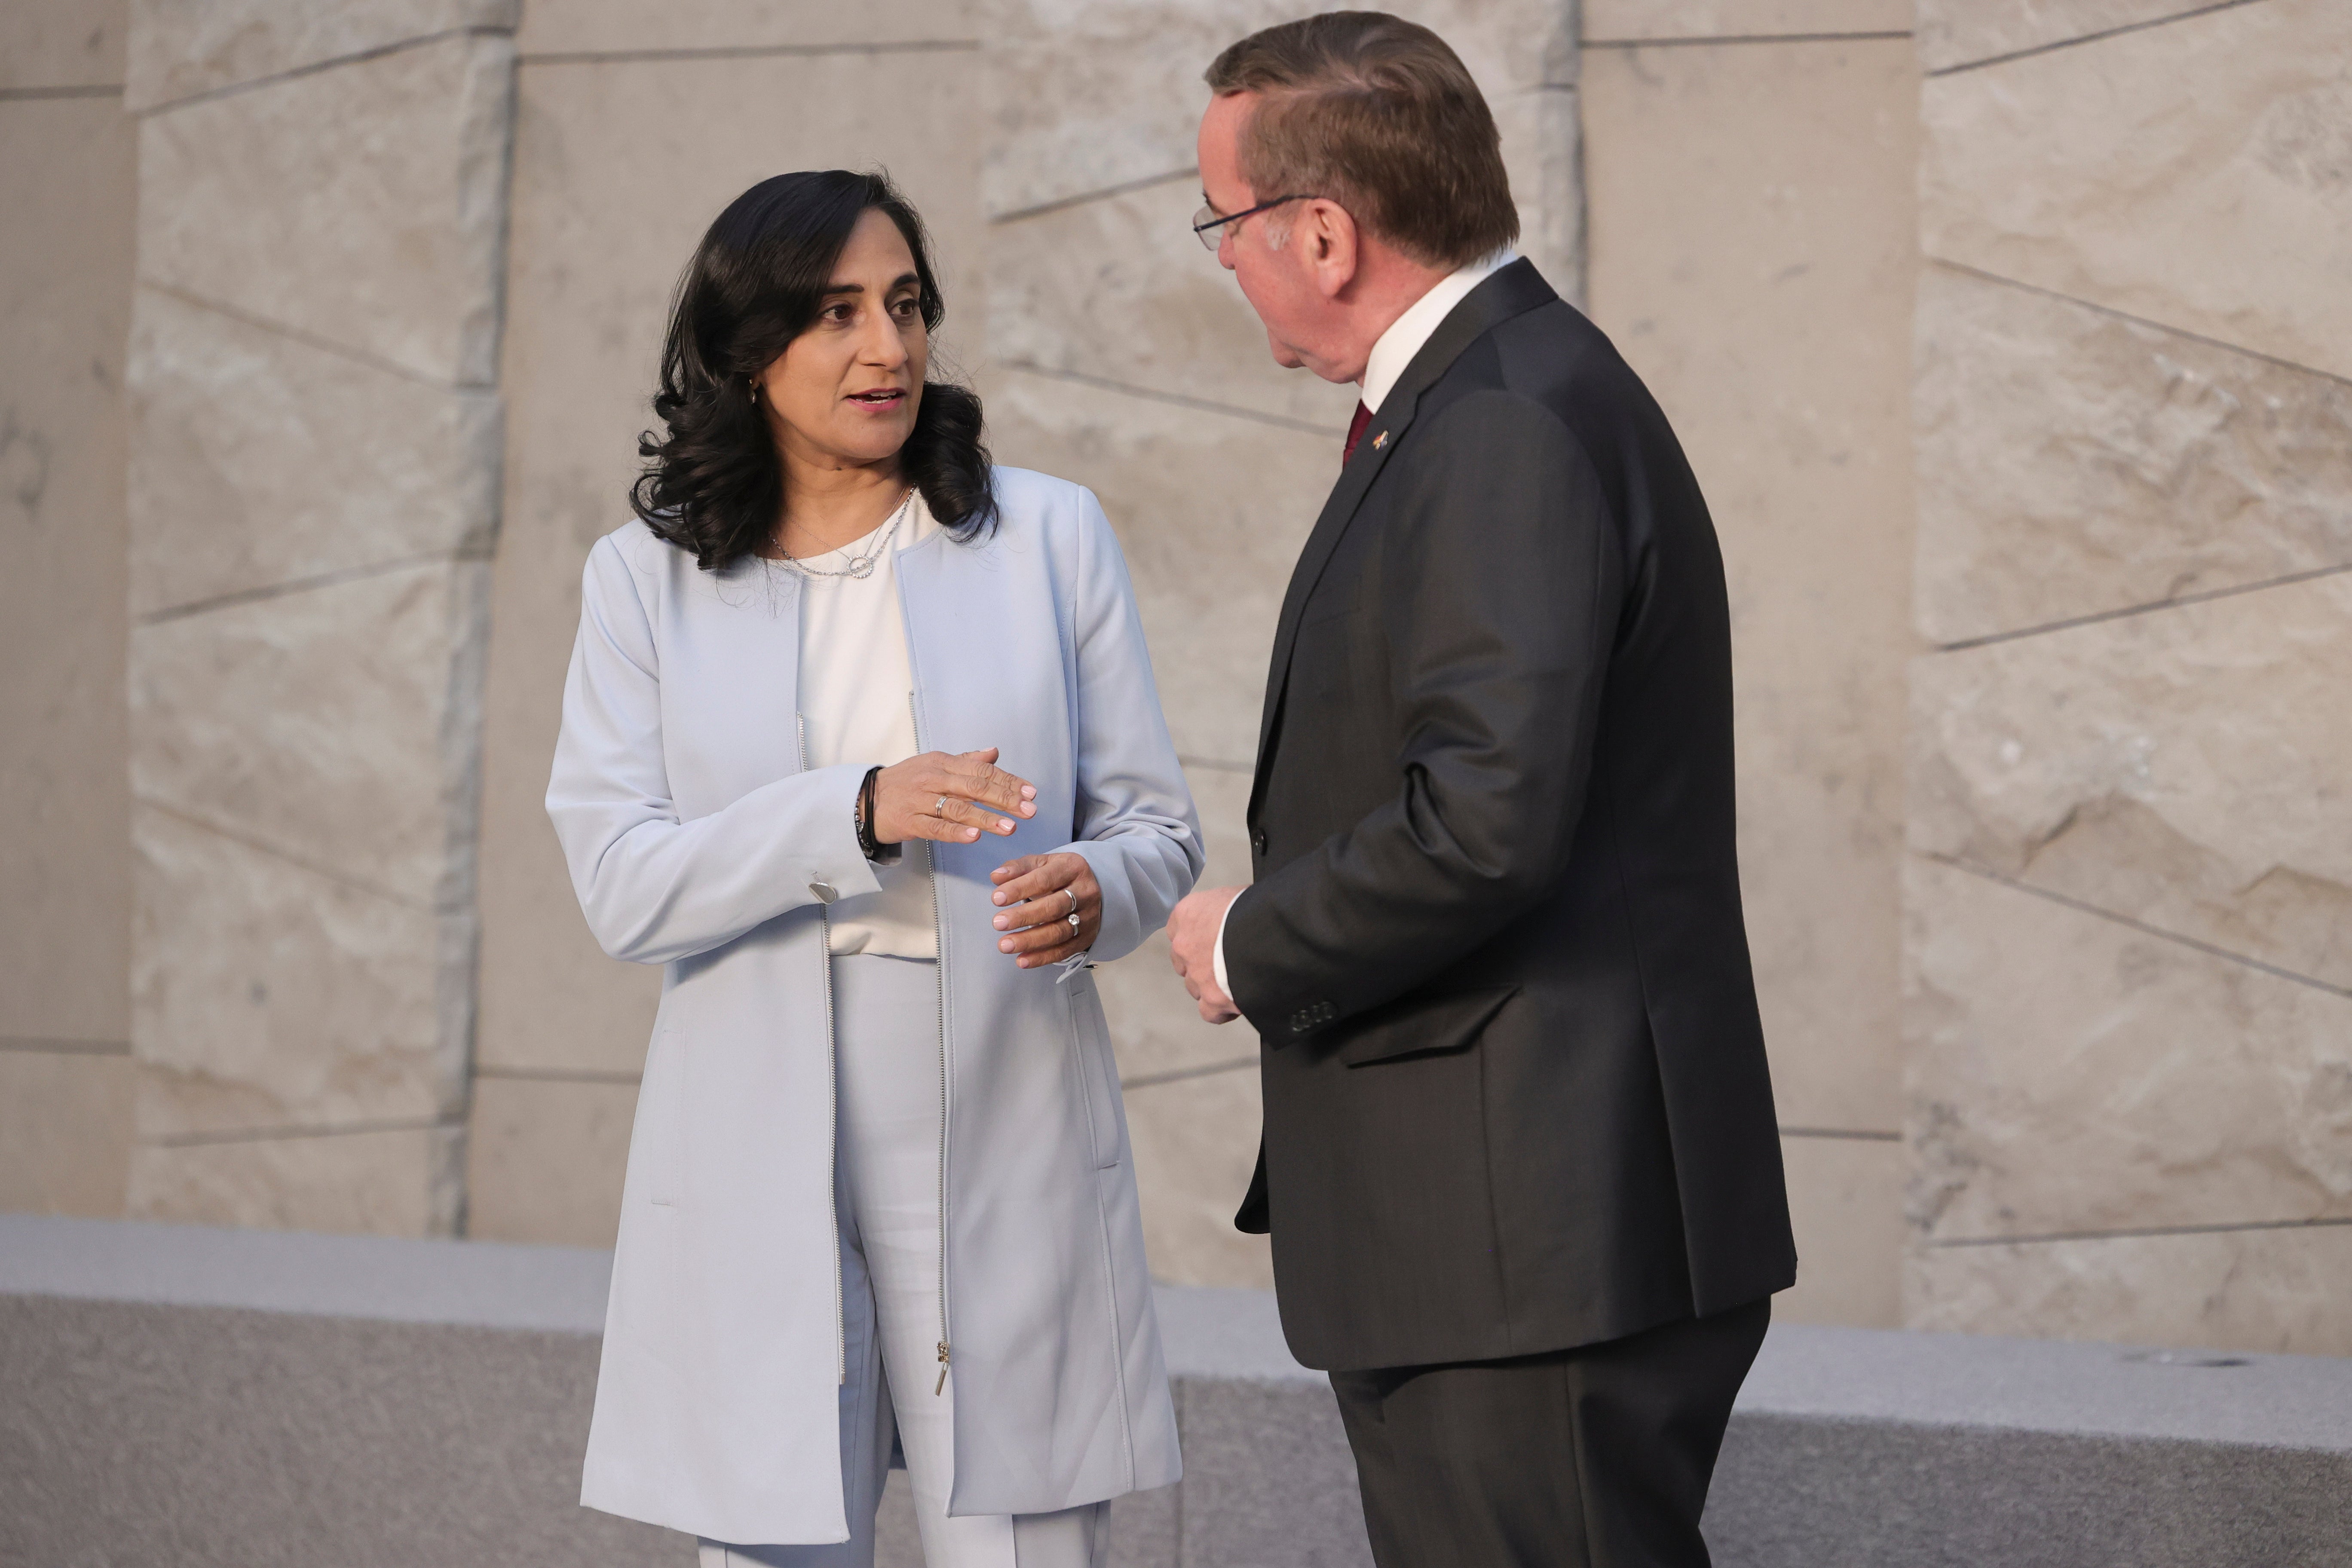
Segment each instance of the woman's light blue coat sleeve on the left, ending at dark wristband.
[[818,903],[818,886],[875,891],[854,816],[863,780],[861,764],[790,773],[680,820],[652,621],[621,548],[604,538],[588,552],[548,816],[604,952],[668,964]]

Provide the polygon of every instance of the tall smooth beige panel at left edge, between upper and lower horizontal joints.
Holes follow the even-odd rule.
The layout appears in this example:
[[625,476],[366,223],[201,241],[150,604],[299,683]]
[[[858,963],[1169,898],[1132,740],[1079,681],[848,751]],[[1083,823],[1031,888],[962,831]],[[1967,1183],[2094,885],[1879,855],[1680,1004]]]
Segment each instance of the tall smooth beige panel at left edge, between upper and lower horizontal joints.
[[[80,16],[103,31],[111,12]],[[61,24],[64,12],[9,12],[0,26],[42,19]],[[0,54],[21,35],[5,38]],[[111,99],[0,103],[0,1034],[129,1032],[122,331],[134,148]]]

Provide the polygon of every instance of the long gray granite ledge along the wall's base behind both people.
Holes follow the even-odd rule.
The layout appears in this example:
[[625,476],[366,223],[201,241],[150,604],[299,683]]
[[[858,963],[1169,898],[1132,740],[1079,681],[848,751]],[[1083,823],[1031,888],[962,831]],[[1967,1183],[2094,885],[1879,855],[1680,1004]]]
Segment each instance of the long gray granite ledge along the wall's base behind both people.
[[[0,1215],[0,1568],[687,1568],[576,1505],[609,1260]],[[1185,1479],[1131,1568],[1369,1563],[1270,1298],[1162,1291]],[[1776,1328],[1724,1568],[2352,1568],[2352,1361]],[[913,1568],[903,1493],[887,1568]]]

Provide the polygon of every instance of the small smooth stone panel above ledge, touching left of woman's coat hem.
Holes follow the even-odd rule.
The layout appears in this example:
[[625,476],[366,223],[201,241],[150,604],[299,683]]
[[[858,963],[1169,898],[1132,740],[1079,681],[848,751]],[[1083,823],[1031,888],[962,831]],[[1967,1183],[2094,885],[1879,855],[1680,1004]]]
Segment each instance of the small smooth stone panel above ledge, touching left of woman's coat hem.
[[612,1246],[635,1084],[477,1077],[466,1131],[466,1234]]

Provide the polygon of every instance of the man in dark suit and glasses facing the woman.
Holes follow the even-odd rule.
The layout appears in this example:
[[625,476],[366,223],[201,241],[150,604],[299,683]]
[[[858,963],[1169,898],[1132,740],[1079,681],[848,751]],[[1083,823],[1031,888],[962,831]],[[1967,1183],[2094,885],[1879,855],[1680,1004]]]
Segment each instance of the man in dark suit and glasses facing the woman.
[[1169,924],[1263,1039],[1237,1215],[1383,1568],[1705,1563],[1795,1279],[1740,924],[1731,632],[1642,381],[1510,256],[1494,118],[1334,12],[1209,71],[1200,230],[1364,388],[1265,684],[1256,882]]

